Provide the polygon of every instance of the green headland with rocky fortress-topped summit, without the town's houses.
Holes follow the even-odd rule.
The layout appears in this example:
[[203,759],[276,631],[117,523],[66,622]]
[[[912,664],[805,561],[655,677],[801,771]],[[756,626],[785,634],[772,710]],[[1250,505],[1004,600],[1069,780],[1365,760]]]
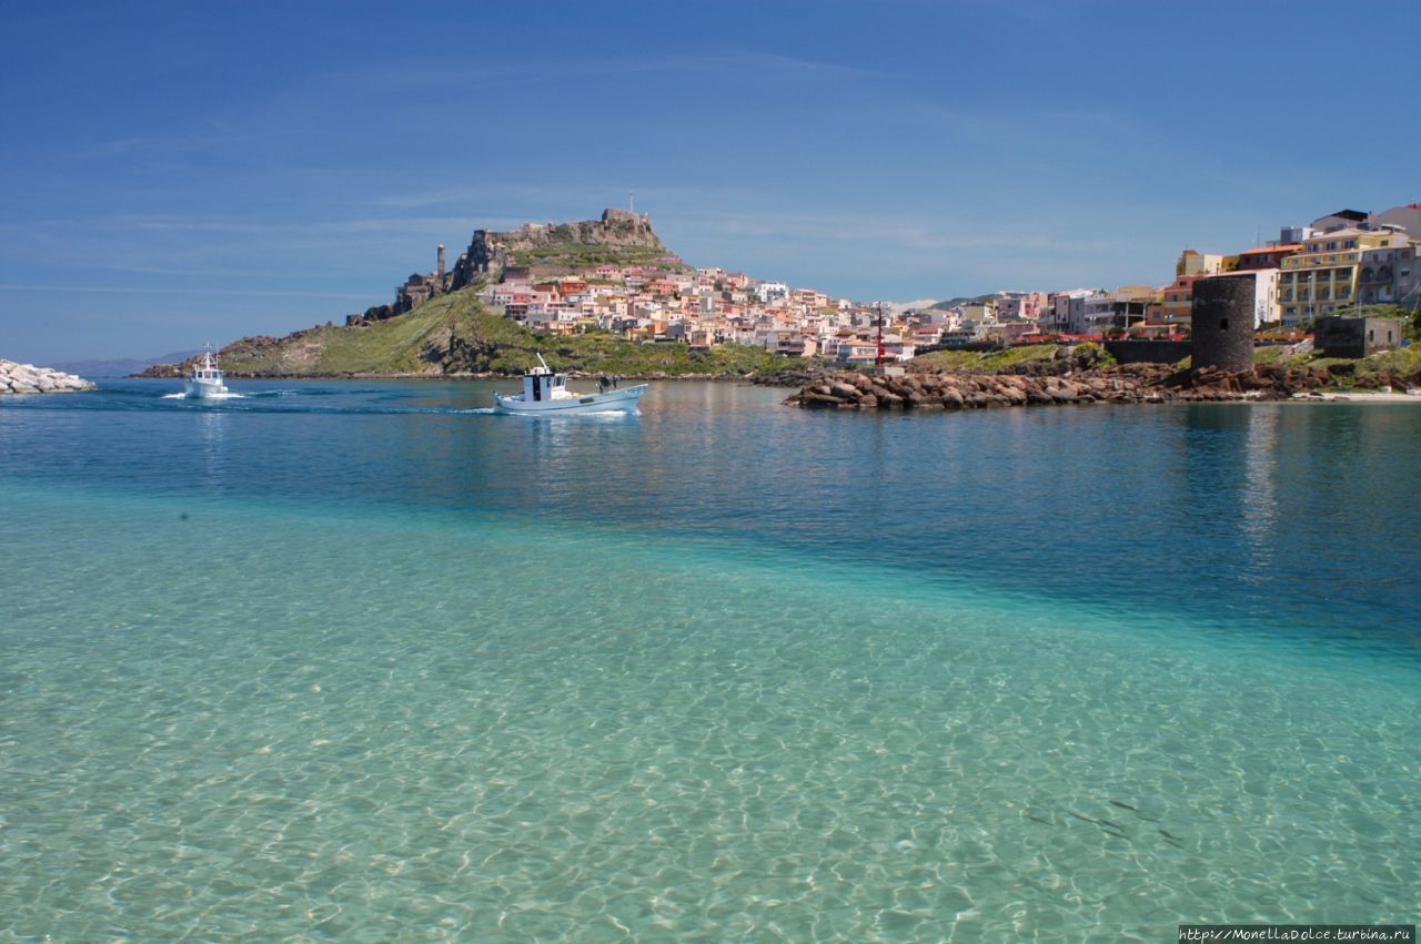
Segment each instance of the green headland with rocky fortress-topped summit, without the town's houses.
[[[745,378],[782,366],[763,348],[637,344],[610,332],[540,332],[486,311],[476,292],[504,278],[597,278],[601,265],[688,271],[644,213],[605,210],[601,219],[476,230],[453,268],[443,247],[432,273],[414,274],[395,300],[283,338],[242,338],[219,352],[229,378],[475,378],[517,376],[541,353],[558,371],[625,378]],[[158,363],[136,376],[176,378],[195,358]]]

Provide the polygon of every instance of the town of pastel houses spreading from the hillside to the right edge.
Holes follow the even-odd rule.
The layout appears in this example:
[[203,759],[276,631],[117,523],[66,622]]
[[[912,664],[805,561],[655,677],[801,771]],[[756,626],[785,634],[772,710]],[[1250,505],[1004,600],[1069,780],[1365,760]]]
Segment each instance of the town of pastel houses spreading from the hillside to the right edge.
[[[645,214],[608,214],[635,217],[649,231]],[[1421,204],[1412,203],[1384,213],[1339,210],[1233,253],[1187,248],[1174,263],[1172,281],[1162,285],[999,291],[888,305],[833,298],[718,267],[691,268],[675,256],[664,256],[642,265],[603,263],[544,278],[523,267],[495,265],[485,270],[489,278],[479,297],[490,311],[553,334],[603,329],[691,348],[740,344],[854,365],[878,358],[908,361],[925,349],[968,344],[1182,339],[1189,335],[1199,281],[1225,275],[1255,280],[1256,329],[1296,332],[1317,318],[1346,315],[1361,305],[1418,309],[1418,251]],[[442,246],[438,258],[438,271],[412,275],[399,287],[391,314],[449,284]]]

